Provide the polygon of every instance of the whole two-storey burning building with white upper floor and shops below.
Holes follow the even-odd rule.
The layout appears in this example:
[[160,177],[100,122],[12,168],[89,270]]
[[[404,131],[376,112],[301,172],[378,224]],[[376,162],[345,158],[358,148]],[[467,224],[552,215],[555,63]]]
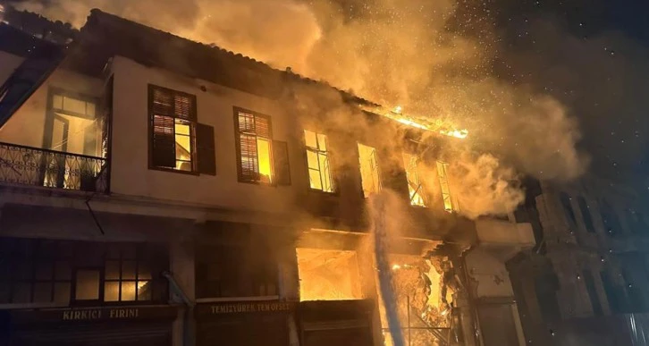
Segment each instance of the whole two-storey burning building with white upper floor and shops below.
[[[97,10],[68,48],[12,25],[0,342],[389,343],[366,197],[392,190],[409,344],[525,343],[505,263],[534,246],[532,226],[453,213],[452,177],[427,150],[452,139],[411,142],[417,129],[366,100]],[[348,111],[318,114],[305,89]],[[400,136],[342,126],[360,122]],[[403,160],[384,155],[394,138]],[[417,156],[438,167],[437,198]]]

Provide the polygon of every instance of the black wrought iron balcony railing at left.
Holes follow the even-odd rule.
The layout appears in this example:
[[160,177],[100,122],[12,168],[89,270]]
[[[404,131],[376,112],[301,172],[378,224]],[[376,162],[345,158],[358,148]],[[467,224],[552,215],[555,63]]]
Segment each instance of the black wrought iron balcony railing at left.
[[105,158],[0,142],[0,182],[108,192]]

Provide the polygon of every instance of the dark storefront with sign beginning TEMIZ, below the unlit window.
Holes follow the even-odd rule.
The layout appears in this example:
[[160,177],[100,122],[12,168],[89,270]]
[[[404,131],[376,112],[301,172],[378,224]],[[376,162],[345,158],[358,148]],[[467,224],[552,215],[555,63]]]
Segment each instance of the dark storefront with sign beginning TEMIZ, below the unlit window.
[[295,305],[283,301],[236,301],[198,304],[197,346],[288,346]]

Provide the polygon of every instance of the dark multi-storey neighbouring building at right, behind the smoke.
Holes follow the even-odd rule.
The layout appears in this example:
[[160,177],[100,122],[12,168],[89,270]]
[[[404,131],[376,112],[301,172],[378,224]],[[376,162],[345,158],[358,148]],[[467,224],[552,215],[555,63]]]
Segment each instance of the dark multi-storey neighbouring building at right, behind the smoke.
[[649,224],[636,191],[592,176],[541,182],[522,209],[538,246],[509,265],[528,341],[645,345]]

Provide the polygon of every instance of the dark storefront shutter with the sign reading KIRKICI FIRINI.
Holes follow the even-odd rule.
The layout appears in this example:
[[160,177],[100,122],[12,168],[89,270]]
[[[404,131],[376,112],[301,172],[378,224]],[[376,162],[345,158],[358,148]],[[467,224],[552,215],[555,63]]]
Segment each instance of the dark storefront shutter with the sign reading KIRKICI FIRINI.
[[11,346],[171,345],[176,308],[114,307],[5,310]]

